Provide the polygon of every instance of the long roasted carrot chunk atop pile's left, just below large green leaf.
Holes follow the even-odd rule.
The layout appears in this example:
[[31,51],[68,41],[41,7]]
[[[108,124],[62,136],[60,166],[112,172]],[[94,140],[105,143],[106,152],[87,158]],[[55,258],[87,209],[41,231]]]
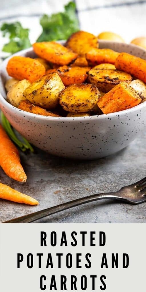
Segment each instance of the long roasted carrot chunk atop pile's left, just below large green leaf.
[[55,41],[43,41],[33,44],[34,52],[41,58],[58,64],[68,65],[77,58],[77,54]]

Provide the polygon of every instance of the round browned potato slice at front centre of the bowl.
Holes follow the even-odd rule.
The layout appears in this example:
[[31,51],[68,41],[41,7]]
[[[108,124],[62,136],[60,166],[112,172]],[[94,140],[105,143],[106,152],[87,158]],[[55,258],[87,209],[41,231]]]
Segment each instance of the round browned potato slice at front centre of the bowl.
[[60,105],[68,112],[89,112],[100,93],[92,84],[72,84],[59,94]]

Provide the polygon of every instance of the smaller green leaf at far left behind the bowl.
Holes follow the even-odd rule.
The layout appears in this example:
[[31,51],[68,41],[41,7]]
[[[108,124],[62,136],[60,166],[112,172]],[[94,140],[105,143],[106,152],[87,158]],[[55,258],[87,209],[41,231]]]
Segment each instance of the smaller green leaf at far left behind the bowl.
[[31,46],[29,29],[23,28],[20,22],[3,23],[1,26],[3,36],[8,36],[10,41],[3,46],[2,51],[14,54]]

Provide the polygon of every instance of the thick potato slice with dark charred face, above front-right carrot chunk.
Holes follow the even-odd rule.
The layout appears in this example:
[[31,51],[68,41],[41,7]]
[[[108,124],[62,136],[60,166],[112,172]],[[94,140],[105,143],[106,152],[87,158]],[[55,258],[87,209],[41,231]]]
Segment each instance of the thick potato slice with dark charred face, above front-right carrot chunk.
[[130,83],[132,77],[130,74],[123,71],[113,69],[101,70],[98,69],[98,66],[95,66],[89,71],[88,79],[92,84],[96,85],[99,90],[108,92],[121,82]]

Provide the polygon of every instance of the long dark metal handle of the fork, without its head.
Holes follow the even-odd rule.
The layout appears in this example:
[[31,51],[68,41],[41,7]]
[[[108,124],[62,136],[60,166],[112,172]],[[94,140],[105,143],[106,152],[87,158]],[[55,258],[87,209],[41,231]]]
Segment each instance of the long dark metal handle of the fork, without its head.
[[101,194],[94,194],[88,197],[83,197],[77,200],[73,200],[73,201],[69,201],[67,203],[58,205],[58,206],[54,206],[51,208],[47,208],[44,210],[40,210],[31,214],[27,214],[12,220],[8,220],[5,221],[3,223],[31,223],[35,220],[44,218],[46,216],[70,209],[72,207],[75,206],[79,206],[82,204],[86,204],[86,203],[90,203],[90,202],[94,202],[94,201],[98,201],[98,200],[102,200],[102,199],[119,199],[121,200],[121,198],[119,196],[117,196],[116,194],[118,194],[118,192],[111,192],[111,193],[101,193]]

